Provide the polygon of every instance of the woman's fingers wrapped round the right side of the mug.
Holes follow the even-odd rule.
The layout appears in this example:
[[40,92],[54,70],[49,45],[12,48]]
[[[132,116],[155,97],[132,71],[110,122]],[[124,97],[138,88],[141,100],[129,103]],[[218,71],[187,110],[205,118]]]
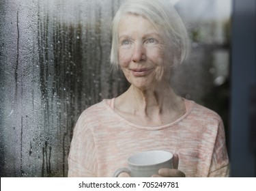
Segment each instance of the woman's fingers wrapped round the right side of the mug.
[[158,175],[152,175],[152,177],[186,177],[186,175],[177,170],[179,166],[179,156],[177,154],[173,155],[173,168],[161,168],[158,171]]

